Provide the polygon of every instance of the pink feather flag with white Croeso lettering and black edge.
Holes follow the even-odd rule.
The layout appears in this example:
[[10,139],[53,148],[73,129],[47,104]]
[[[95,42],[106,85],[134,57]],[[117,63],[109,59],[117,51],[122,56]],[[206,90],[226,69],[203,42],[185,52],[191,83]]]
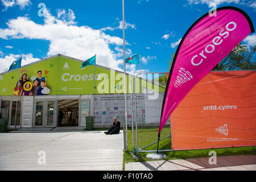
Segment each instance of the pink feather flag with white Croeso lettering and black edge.
[[[214,12],[214,11],[213,11]],[[251,32],[250,17],[236,7],[205,14],[185,33],[172,63],[164,94],[158,136],[188,92]]]

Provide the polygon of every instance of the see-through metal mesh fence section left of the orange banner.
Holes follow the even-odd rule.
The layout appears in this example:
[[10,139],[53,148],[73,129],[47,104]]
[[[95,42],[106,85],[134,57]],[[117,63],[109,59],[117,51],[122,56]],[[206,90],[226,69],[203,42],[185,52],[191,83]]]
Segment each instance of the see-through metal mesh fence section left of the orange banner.
[[[130,90],[136,90],[134,78],[131,78]],[[154,152],[157,150],[158,129],[162,111],[163,93],[154,100],[147,99],[148,93],[139,94],[131,92],[133,102],[127,109],[131,109],[131,129],[128,130],[128,149],[135,152]],[[141,99],[144,97],[144,99]],[[141,102],[141,103],[139,103]],[[142,117],[141,117],[142,116]],[[131,135],[131,136],[130,136]],[[132,143],[132,147],[131,147]],[[171,125],[170,119],[161,131],[159,151],[171,151]]]

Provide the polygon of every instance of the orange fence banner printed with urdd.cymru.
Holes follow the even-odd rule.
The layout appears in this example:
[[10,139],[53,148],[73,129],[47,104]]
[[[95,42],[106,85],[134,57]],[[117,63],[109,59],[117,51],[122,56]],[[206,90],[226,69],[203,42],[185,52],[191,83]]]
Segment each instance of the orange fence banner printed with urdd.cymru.
[[210,72],[171,114],[172,150],[256,146],[256,71]]

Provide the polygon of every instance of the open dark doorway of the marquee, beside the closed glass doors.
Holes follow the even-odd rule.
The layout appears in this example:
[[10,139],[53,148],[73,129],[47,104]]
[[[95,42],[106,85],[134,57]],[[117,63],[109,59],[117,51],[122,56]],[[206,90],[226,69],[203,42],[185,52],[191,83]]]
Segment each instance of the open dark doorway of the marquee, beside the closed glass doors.
[[68,99],[58,101],[58,125],[79,126],[79,100]]

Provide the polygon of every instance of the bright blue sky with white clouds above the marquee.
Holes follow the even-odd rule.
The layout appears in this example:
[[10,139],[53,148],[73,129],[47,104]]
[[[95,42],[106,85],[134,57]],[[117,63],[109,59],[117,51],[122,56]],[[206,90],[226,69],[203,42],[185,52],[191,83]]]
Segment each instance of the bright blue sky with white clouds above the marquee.
[[[39,3],[46,5],[44,16]],[[210,3],[236,6],[256,26],[255,1],[125,0],[126,55],[141,53],[142,72],[167,72],[179,40]],[[122,0],[0,0],[0,72],[20,56],[24,65],[57,53],[82,60],[97,54],[97,64],[123,70],[122,38]],[[256,35],[243,43],[255,44]],[[139,72],[139,65],[126,68]]]

